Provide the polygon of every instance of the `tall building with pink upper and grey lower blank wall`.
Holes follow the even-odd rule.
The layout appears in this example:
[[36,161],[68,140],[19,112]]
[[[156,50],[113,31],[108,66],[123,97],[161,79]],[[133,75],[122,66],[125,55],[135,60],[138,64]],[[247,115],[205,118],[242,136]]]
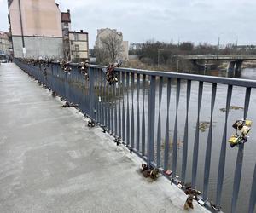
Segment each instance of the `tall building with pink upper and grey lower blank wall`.
[[15,57],[63,57],[61,11],[54,0],[9,1]]

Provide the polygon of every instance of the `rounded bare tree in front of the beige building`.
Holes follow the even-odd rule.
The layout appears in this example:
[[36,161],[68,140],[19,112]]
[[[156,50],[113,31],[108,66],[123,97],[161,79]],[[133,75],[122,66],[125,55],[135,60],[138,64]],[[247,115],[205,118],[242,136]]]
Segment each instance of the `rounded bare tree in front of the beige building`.
[[102,49],[107,53],[108,59],[112,62],[118,60],[123,52],[123,41],[117,33],[110,33],[107,37],[101,38]]

